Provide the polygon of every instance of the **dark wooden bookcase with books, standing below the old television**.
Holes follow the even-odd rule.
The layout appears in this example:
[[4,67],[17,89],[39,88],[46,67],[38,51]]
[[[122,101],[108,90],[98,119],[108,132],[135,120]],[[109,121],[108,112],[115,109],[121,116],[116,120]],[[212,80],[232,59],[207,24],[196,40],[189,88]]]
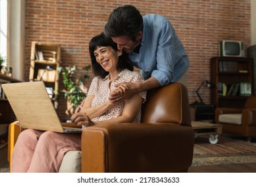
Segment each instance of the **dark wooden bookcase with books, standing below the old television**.
[[211,101],[215,107],[243,108],[253,94],[253,60],[240,57],[211,58]]

